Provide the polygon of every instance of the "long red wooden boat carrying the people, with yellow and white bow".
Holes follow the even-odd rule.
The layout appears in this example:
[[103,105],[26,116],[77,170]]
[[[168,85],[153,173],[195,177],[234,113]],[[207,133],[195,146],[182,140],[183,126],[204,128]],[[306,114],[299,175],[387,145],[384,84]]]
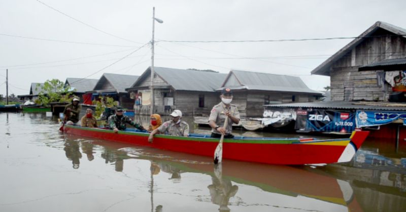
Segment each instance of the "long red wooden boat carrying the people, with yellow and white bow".
[[[133,145],[213,157],[219,139],[209,135],[189,137],[156,135],[148,142],[148,133],[134,130],[114,133],[112,130],[65,125],[64,132]],[[369,132],[354,131],[348,139],[317,140],[313,138],[244,138],[224,139],[223,158],[269,164],[319,164],[348,162],[360,148]]]

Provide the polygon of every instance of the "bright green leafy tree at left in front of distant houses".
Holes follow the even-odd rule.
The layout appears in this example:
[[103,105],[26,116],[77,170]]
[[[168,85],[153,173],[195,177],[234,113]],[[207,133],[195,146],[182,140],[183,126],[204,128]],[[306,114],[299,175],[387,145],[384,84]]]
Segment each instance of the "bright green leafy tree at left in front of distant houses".
[[41,86],[37,84],[36,91],[41,90],[38,95],[37,104],[49,106],[50,102],[70,102],[73,91],[70,86],[65,84],[59,79],[48,79]]

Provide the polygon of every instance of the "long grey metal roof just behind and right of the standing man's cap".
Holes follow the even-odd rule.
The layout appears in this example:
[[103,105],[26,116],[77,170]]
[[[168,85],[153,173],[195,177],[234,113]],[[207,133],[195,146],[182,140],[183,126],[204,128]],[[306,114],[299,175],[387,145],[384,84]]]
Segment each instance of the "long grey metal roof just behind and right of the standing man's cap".
[[[321,95],[321,92],[309,89],[297,76],[278,75],[251,71],[231,70],[229,76],[234,74],[240,86],[231,89],[246,89],[257,91],[298,92]],[[227,77],[228,79],[228,77]],[[223,85],[226,82],[223,83]],[[221,90],[222,88],[218,89]]]

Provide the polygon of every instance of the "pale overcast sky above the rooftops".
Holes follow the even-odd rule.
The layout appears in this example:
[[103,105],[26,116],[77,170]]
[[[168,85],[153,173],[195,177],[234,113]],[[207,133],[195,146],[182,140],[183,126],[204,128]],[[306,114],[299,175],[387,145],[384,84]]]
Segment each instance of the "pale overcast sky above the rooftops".
[[159,40],[352,37],[377,21],[406,28],[406,1],[401,0],[0,0],[0,94],[6,94],[6,69],[9,94],[16,95],[29,94],[31,82],[52,78],[65,81],[66,77],[93,73],[88,78],[98,79],[103,73],[141,75],[151,65],[150,45],[115,62],[151,40],[152,7],[155,17],[163,20],[155,24],[155,66],[296,75],[313,90],[323,90],[330,79],[310,72],[351,39],[258,43]]

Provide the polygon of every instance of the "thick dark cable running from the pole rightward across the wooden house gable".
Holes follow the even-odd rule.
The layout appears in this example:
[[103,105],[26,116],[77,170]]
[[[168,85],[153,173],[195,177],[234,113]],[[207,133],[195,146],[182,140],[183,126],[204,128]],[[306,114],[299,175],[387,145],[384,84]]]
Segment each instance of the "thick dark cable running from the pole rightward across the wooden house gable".
[[325,38],[300,38],[300,39],[270,39],[270,40],[156,40],[155,42],[168,42],[168,43],[260,43],[260,42],[283,42],[283,41],[309,41],[309,40],[355,39],[355,38],[388,37],[388,36],[406,36],[406,34],[376,35],[376,36],[356,36],[356,37],[325,37]]

